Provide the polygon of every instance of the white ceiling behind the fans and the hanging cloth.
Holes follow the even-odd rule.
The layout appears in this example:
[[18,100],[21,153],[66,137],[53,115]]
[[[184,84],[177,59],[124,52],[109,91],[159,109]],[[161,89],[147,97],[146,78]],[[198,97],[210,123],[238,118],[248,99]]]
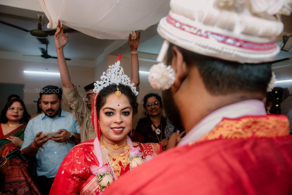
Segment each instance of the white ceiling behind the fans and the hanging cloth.
[[[1,0],[0,1],[0,20],[9,22],[11,24],[20,26],[22,28],[32,30],[36,29],[38,25],[37,15],[44,15],[43,27],[48,30],[46,25],[48,19],[42,12],[39,0]],[[291,16],[284,16],[285,33],[292,34]],[[163,39],[157,34],[157,25],[153,25],[141,31],[139,52],[150,53],[157,55],[159,53]],[[51,30],[51,29],[49,29]],[[281,38],[280,38],[281,39]],[[56,56],[54,37],[48,36],[48,54]],[[18,56],[18,59],[24,58],[26,60],[42,60],[41,57],[27,57],[23,55],[41,55],[39,48],[45,48],[46,45],[41,44],[29,32],[24,32],[0,23],[0,57],[1,56]],[[77,60],[75,65],[94,66],[101,62],[108,54],[118,55],[121,53],[128,53],[129,47],[127,40],[106,40],[96,39],[85,35],[81,32],[69,33],[69,43],[65,46],[64,53],[66,58],[71,58],[70,63]],[[139,55],[140,56],[140,55]],[[141,56],[140,56],[141,57]],[[291,58],[291,52],[281,51],[276,60],[282,58]],[[152,55],[152,59],[153,60]],[[146,59],[147,60],[147,59]],[[48,59],[48,62],[57,62],[56,59]],[[84,62],[84,63],[83,63]],[[89,63],[88,63],[89,62]]]

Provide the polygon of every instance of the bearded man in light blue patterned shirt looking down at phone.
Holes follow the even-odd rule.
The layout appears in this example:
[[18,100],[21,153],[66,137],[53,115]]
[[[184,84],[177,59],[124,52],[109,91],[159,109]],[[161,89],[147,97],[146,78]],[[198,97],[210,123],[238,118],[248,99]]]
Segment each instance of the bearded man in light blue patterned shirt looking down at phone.
[[41,90],[40,97],[44,113],[28,122],[21,150],[28,158],[36,157],[37,187],[44,195],[49,194],[65,156],[75,143],[80,143],[80,130],[73,115],[61,109],[61,88],[46,86]]

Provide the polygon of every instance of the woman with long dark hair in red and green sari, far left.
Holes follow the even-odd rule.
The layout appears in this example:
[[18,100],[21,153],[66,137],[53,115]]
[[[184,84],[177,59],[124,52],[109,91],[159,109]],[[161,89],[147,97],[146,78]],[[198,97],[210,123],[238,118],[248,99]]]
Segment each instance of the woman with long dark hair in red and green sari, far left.
[[6,103],[0,126],[0,191],[2,194],[40,194],[27,171],[22,146],[28,113],[22,100]]

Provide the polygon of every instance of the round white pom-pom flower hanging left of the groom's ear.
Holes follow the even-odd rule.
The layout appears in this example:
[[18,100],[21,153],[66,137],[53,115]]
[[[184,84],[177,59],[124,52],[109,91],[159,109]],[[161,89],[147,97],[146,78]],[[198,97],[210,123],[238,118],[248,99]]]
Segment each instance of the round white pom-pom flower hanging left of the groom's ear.
[[158,63],[150,68],[148,81],[154,89],[166,90],[171,87],[175,80],[175,72],[171,66]]

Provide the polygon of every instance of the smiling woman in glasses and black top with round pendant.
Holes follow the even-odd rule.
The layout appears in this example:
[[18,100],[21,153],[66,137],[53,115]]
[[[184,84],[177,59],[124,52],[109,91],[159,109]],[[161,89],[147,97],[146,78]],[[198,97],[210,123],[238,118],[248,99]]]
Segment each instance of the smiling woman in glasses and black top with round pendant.
[[161,116],[161,97],[155,93],[145,95],[143,107],[147,117],[138,121],[133,140],[141,143],[161,143],[164,148],[171,134],[168,137],[165,134],[167,123],[166,118]]

